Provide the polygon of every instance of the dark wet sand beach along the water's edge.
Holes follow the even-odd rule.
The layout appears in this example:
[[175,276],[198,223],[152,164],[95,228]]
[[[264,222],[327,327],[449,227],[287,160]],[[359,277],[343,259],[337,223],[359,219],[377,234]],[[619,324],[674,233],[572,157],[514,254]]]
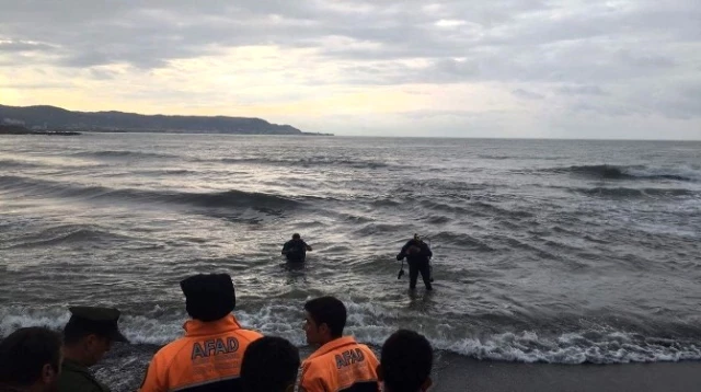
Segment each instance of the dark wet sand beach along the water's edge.
[[[369,347],[379,357],[379,347]],[[133,391],[160,348],[151,344],[116,344],[93,370],[113,391]],[[298,348],[301,359],[313,351],[310,346]],[[698,390],[701,384],[701,361],[526,364],[480,360],[434,350],[432,379],[430,392],[687,392]]]

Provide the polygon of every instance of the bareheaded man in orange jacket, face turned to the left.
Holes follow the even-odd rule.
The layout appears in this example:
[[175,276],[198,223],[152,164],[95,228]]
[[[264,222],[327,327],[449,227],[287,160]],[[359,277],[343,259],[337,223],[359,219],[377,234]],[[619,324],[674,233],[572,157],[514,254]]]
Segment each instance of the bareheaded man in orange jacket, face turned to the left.
[[343,336],[346,307],[334,297],[304,304],[307,343],[320,345],[302,362],[301,392],[379,392],[377,357],[353,336]]

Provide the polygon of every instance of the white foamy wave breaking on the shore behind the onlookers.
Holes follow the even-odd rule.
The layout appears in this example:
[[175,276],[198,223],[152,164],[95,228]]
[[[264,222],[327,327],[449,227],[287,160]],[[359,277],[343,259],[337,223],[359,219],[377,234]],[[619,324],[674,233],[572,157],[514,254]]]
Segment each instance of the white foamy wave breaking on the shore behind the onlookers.
[[[301,304],[300,304],[301,305]],[[348,303],[348,326],[345,333],[359,342],[379,347],[398,327],[391,325],[392,314],[374,303]],[[184,310],[164,311],[159,307],[145,315],[123,312],[119,328],[133,344],[163,345],[183,334]],[[269,303],[256,310],[235,311],[244,327],[266,335],[288,338],[306,346],[304,334],[294,321],[299,318],[295,303]],[[157,318],[158,316],[158,318]],[[20,307],[0,308],[0,336],[24,326],[46,326],[61,330],[69,313],[62,309],[27,310]],[[628,364],[701,359],[701,342],[694,338],[645,336],[625,331],[576,331],[544,333],[519,331],[471,336],[449,333],[453,326],[441,320],[435,327],[416,321],[413,327],[426,335],[435,349],[476,359],[549,362],[549,364]]]

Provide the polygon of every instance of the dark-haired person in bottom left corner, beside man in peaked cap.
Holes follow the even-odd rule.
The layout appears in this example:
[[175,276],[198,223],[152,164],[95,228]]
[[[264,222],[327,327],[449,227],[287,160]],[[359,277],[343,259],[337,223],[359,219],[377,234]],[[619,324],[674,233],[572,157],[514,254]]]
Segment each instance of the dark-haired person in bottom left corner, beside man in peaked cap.
[[0,342],[0,391],[56,392],[61,371],[61,337],[33,326]]

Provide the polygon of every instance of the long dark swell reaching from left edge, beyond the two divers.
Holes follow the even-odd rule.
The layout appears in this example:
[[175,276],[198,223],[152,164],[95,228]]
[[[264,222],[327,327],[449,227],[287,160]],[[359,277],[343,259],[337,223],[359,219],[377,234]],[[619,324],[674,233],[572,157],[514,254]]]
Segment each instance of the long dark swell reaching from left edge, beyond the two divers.
[[81,200],[116,199],[139,203],[187,204],[198,207],[290,209],[302,201],[257,192],[223,191],[214,193],[191,193],[175,191],[148,191],[135,188],[110,188],[83,186],[72,183],[54,182],[31,177],[0,175],[0,189],[21,192],[24,196],[78,198]]

